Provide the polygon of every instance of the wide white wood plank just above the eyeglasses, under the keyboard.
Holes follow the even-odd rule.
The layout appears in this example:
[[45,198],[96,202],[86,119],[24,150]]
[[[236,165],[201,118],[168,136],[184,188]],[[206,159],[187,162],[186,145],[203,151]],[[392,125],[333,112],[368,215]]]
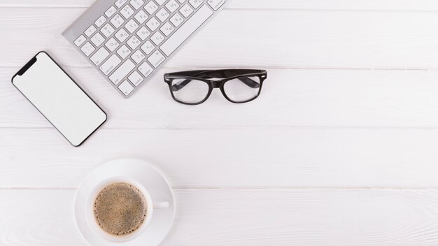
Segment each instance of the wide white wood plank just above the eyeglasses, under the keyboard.
[[[25,8],[17,14],[1,8],[0,32],[9,36],[0,46],[0,66],[20,66],[39,50],[66,66],[90,66],[60,35],[82,11]],[[167,67],[435,69],[438,64],[435,12],[282,13],[265,10],[260,17],[258,10],[224,10]],[[281,28],[284,24],[288,28]]]

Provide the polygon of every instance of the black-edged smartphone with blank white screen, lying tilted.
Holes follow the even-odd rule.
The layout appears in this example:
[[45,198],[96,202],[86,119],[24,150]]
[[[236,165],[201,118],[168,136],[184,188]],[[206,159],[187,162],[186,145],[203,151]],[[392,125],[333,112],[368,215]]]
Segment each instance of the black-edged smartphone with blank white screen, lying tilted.
[[82,145],[107,115],[46,52],[39,52],[12,84],[73,146]]

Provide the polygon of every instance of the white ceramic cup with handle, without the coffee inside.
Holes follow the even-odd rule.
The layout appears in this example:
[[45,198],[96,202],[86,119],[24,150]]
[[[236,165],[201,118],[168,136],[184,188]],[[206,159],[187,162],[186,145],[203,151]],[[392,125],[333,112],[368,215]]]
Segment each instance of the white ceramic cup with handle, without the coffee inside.
[[[144,220],[143,224],[141,224],[139,229],[136,229],[136,231],[134,231],[133,233],[129,233],[123,236],[115,236],[115,235],[111,235],[110,233],[107,233],[106,231],[100,228],[99,224],[94,218],[94,200],[96,199],[97,195],[102,189],[104,189],[104,187],[108,186],[109,184],[113,184],[117,182],[125,182],[134,185],[134,187],[137,187],[141,191],[141,194],[143,194],[143,196],[145,197],[146,205],[147,205],[146,219]],[[169,203],[168,202],[153,203],[153,200],[150,197],[148,190],[136,180],[132,180],[130,178],[125,178],[125,177],[113,177],[99,182],[99,184],[97,184],[92,189],[92,191],[90,192],[90,196],[88,196],[87,203],[85,205],[85,212],[86,212],[85,216],[87,218],[87,223],[90,226],[90,229],[100,238],[103,238],[104,240],[107,240],[111,243],[126,243],[128,241],[134,240],[135,238],[139,237],[141,233],[144,232],[144,230],[146,229],[148,224],[150,224],[153,218],[153,212],[155,209],[163,209],[163,208],[169,208]]]

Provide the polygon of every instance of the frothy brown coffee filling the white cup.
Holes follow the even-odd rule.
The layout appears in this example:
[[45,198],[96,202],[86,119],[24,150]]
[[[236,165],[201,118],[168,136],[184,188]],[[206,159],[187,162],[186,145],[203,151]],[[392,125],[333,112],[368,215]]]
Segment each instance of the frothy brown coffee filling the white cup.
[[94,218],[113,236],[134,233],[146,219],[145,196],[132,184],[115,182],[99,191],[94,200]]

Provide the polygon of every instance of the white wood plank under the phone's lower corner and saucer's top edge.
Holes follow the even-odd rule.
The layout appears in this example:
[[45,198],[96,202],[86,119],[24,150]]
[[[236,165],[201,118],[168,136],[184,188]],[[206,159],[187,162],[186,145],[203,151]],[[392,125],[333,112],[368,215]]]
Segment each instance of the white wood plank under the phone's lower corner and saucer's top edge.
[[438,130],[104,129],[71,147],[54,129],[0,129],[0,187],[77,187],[132,157],[173,187],[438,187]]

